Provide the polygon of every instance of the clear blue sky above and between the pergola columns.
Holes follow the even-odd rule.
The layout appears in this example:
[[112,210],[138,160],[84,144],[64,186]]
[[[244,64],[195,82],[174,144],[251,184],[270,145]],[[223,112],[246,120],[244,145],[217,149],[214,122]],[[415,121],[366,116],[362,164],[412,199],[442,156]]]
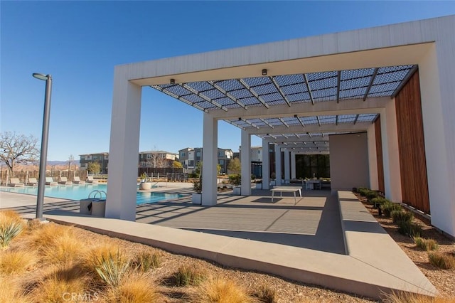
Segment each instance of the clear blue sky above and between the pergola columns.
[[[455,14],[455,1],[0,1],[0,131],[41,139],[48,160],[109,151],[114,66]],[[202,112],[144,87],[139,150],[202,146]],[[238,151],[240,129],[219,124]],[[256,137],[253,145],[259,145]]]

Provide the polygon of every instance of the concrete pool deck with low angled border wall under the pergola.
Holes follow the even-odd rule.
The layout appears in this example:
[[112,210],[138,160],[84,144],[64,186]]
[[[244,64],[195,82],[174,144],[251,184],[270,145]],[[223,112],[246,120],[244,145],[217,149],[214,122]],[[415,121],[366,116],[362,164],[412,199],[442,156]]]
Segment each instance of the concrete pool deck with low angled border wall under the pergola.
[[[154,191],[191,193],[191,188]],[[216,206],[191,196],[137,206],[137,221],[78,213],[77,201],[45,198],[45,218],[231,267],[378,299],[392,291],[437,289],[352,193],[302,191],[303,198],[220,193]],[[36,196],[0,192],[0,207],[33,217]],[[27,215],[28,214],[28,215]]]

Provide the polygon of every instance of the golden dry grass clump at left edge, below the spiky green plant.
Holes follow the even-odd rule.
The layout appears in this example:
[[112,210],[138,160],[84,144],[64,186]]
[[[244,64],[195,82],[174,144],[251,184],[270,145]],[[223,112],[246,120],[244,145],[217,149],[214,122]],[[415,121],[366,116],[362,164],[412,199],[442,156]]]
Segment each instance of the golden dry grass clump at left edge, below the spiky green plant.
[[31,270],[36,262],[37,257],[31,250],[7,250],[0,252],[0,272],[6,275]]

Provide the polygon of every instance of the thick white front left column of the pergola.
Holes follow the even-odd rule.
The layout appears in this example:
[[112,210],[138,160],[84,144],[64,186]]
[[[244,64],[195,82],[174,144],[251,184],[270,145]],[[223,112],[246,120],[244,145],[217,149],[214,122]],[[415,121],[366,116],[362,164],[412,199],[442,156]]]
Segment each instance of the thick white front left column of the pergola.
[[136,220],[141,87],[114,73],[106,218]]

